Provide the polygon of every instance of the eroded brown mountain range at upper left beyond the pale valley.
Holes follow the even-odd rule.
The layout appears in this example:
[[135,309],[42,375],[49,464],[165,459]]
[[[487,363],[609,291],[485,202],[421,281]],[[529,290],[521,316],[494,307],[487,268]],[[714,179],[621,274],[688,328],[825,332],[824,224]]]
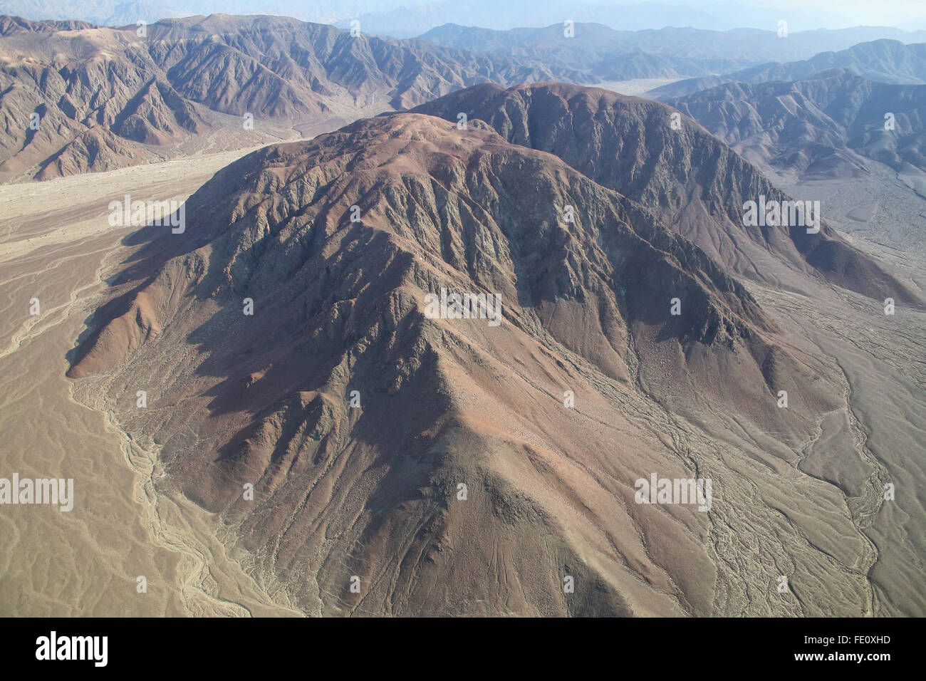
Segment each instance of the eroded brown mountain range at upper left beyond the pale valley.
[[279,141],[476,82],[581,78],[284,18],[165,19],[142,34],[3,18],[0,32],[7,181]]

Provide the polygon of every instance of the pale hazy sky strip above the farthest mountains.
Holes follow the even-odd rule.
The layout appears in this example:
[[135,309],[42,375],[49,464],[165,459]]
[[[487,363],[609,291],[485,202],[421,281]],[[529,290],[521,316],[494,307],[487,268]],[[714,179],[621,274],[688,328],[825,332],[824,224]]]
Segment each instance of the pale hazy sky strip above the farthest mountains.
[[[737,28],[770,29],[780,19],[791,22],[795,31],[807,29],[842,29],[859,24],[897,26],[907,30],[926,29],[917,13],[914,0],[905,0],[904,8],[865,3],[843,3],[839,11],[832,7],[814,10],[807,4],[769,3],[756,6],[728,0],[691,0],[667,2],[583,2],[568,7],[556,0],[515,0],[499,6],[486,0],[473,0],[465,6],[443,0],[321,0],[310,5],[285,2],[230,3],[223,0],[168,0],[150,3],[144,0],[88,0],[87,2],[49,3],[45,0],[3,0],[0,14],[29,19],[83,19],[107,26],[125,26],[138,20],[153,23],[169,17],[189,17],[214,12],[227,14],[267,14],[294,17],[317,23],[336,23],[346,27],[359,20],[366,32],[410,38],[444,23],[484,26],[507,30],[523,26],[540,27],[561,23],[565,19],[602,23],[613,28],[636,31],[665,26],[691,26],[726,31]],[[567,10],[567,11],[564,11]],[[893,10],[893,11],[892,11]]]

